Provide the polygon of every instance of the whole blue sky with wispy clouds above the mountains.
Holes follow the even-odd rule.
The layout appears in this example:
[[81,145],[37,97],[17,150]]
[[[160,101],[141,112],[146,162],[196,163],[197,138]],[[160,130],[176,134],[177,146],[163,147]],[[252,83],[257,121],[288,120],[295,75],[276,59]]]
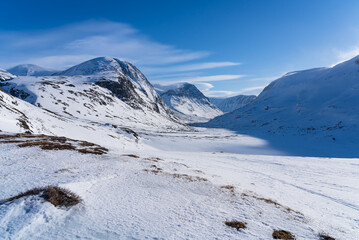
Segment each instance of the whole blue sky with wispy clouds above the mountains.
[[0,67],[125,59],[152,82],[258,94],[288,71],[359,54],[359,1],[4,0]]

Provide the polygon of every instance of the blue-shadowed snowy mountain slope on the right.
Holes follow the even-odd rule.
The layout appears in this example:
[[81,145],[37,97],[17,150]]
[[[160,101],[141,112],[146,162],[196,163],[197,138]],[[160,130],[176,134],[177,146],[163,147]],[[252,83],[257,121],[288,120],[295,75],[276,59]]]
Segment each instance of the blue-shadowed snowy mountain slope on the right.
[[343,131],[356,134],[358,106],[359,56],[333,67],[287,73],[252,103],[203,126],[241,132],[321,133],[335,140]]

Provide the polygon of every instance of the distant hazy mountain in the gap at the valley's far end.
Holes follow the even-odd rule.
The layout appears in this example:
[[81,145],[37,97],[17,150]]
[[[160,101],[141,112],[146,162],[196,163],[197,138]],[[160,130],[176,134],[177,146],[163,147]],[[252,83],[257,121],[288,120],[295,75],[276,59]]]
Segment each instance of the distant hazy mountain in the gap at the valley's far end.
[[222,112],[232,112],[238,108],[244,107],[256,99],[255,95],[238,95],[229,98],[209,98],[211,103],[216,105]]

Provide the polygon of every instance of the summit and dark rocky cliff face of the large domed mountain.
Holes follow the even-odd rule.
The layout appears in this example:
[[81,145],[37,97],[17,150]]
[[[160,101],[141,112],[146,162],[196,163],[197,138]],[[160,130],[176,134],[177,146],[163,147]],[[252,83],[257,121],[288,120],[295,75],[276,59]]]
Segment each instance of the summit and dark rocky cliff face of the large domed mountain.
[[126,61],[115,58],[95,58],[63,72],[59,76],[92,75],[94,83],[110,90],[134,109],[153,110],[171,115],[171,110],[154,90],[142,72]]

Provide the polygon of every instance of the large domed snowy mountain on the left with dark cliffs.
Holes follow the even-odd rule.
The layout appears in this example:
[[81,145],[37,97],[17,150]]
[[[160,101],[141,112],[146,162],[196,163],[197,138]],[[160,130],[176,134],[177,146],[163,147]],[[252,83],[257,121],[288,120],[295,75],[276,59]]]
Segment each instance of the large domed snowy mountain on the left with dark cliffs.
[[180,126],[146,77],[118,59],[92,59],[57,76],[21,76],[2,88],[65,117],[139,128]]

